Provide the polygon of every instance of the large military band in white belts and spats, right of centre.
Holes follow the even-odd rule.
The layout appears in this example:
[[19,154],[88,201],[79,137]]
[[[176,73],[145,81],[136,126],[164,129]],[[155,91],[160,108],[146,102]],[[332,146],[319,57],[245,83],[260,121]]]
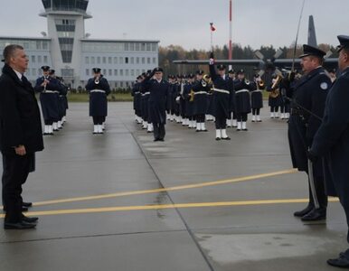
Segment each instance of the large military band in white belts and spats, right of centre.
[[[261,122],[259,113],[263,107],[264,82],[258,75],[252,81],[245,79],[243,70],[237,72],[237,78],[233,70],[226,75],[224,65],[218,65],[216,70],[213,58],[210,63],[210,74],[197,70],[195,75],[190,74],[187,78],[168,77],[169,87],[165,95],[167,120],[196,128],[196,132],[206,132],[205,120],[215,120],[216,140],[230,140],[226,128],[234,126],[238,131],[247,131],[248,114],[251,112],[252,122]],[[151,70],[148,70],[138,76],[133,89],[136,121],[148,133],[153,132],[153,125],[149,116],[150,91],[144,81],[150,73]],[[276,78],[267,90],[270,93],[280,92],[279,84]],[[281,98],[280,93],[278,96]],[[278,97],[269,98],[273,110],[277,110],[278,105],[275,99]]]

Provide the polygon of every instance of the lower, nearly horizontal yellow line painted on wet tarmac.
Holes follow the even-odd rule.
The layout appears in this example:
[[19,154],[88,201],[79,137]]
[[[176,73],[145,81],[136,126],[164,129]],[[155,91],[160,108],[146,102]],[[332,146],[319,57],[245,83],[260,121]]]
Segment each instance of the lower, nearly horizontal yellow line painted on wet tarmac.
[[[140,205],[140,206],[123,206],[123,207],[103,207],[89,209],[71,209],[71,210],[41,210],[30,211],[26,213],[29,216],[49,216],[62,214],[81,214],[97,213],[126,210],[164,210],[164,209],[184,209],[184,208],[203,208],[203,207],[229,207],[229,206],[249,206],[263,204],[286,204],[286,203],[306,203],[308,199],[288,199],[288,200],[262,200],[262,201],[222,201],[222,202],[197,202],[197,203],[178,203],[178,204],[157,204],[157,205]],[[338,199],[329,198],[328,201],[336,202]],[[1,214],[0,218],[4,218]]]

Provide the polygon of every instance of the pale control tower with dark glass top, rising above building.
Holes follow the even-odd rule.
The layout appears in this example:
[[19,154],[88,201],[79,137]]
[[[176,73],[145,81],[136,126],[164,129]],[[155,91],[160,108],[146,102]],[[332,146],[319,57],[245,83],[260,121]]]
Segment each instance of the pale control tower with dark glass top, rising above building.
[[48,36],[51,37],[51,52],[54,69],[71,81],[80,80],[80,40],[85,35],[84,20],[92,18],[86,13],[89,0],[42,0],[47,17]]

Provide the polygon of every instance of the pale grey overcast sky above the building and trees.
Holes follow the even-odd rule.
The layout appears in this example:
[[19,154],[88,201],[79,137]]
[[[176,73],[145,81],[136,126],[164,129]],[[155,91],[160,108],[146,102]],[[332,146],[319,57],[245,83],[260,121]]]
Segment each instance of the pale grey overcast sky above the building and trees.
[[[303,0],[232,0],[232,42],[258,49],[295,41]],[[3,3],[4,4],[4,3]],[[47,31],[40,0],[6,1],[0,9],[0,36],[41,36]],[[318,43],[337,45],[349,35],[349,0],[306,0],[298,43],[307,43],[307,20],[314,15]],[[208,50],[229,41],[229,0],[90,0],[85,32],[96,39],[159,40],[161,46]]]

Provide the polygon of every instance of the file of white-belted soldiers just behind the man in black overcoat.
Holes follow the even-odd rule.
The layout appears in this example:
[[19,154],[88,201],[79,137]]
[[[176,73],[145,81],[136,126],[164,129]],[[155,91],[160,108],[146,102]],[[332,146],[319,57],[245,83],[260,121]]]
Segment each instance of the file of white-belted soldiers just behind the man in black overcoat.
[[35,91],[40,93],[43,135],[53,135],[53,132],[58,132],[66,122],[68,88],[63,79],[54,73],[49,66],[42,66],[42,76],[36,79],[34,87]]

